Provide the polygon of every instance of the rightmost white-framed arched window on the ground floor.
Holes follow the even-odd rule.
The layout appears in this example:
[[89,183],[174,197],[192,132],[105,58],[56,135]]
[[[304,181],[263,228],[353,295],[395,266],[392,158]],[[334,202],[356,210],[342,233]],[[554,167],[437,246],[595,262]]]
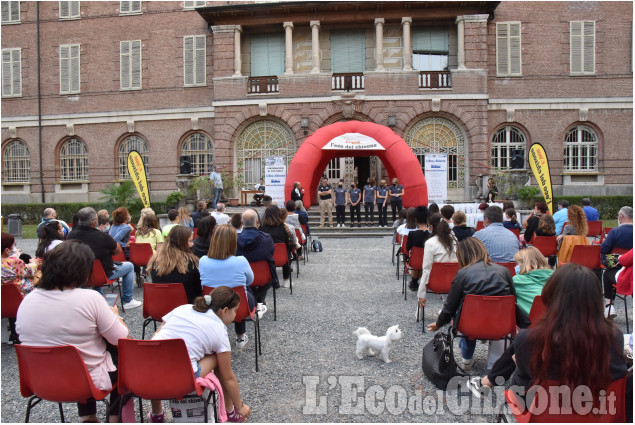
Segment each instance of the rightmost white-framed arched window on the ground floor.
[[598,136],[577,125],[564,136],[564,171],[598,171]]

